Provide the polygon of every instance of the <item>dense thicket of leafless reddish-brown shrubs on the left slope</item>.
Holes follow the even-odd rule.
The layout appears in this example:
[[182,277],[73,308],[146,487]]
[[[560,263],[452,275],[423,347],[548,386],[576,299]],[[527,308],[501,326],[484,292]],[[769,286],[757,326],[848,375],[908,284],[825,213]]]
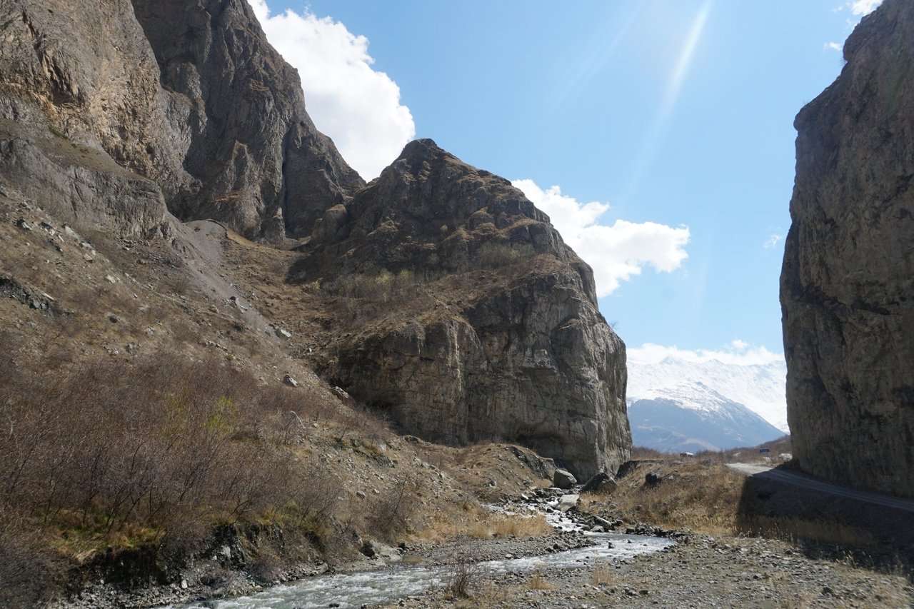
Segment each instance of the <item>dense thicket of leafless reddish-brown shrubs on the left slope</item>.
[[72,550],[186,550],[214,523],[289,511],[316,528],[332,508],[323,469],[253,431],[280,424],[276,394],[217,359],[49,374],[9,353],[0,354],[0,514],[79,539]]

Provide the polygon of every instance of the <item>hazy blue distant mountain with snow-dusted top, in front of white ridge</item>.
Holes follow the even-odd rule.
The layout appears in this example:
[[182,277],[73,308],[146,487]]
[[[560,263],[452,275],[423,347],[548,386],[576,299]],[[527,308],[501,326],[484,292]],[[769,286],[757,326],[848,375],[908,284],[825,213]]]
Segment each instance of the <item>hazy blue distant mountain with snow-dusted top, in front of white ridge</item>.
[[644,391],[630,401],[632,443],[667,453],[756,446],[784,433],[701,382]]

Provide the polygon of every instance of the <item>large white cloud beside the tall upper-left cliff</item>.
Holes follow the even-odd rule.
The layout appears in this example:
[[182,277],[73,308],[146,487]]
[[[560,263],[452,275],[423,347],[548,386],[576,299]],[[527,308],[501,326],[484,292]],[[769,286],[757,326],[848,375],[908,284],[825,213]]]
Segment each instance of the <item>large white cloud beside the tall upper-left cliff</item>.
[[368,39],[330,17],[287,10],[271,15],[266,0],[249,0],[273,47],[302,78],[308,114],[333,138],[346,162],[376,177],[416,134],[397,83],[372,69]]

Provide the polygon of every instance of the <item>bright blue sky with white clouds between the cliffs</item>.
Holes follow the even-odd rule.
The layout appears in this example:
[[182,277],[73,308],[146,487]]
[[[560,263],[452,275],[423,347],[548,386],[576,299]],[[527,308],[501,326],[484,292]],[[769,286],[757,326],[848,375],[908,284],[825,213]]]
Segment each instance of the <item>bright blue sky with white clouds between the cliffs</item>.
[[880,0],[249,0],[367,180],[428,137],[512,180],[630,358],[782,360],[793,118]]

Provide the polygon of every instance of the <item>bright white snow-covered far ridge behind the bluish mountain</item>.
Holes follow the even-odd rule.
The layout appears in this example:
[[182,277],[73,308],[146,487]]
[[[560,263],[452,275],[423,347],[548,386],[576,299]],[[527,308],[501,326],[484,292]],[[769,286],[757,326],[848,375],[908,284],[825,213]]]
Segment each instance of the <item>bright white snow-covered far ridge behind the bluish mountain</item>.
[[725,364],[717,359],[689,361],[667,357],[658,363],[630,359],[627,397],[632,404],[648,397],[650,391],[700,383],[726,396],[728,401],[745,405],[781,432],[788,433],[786,379],[787,365],[783,359],[748,365]]

